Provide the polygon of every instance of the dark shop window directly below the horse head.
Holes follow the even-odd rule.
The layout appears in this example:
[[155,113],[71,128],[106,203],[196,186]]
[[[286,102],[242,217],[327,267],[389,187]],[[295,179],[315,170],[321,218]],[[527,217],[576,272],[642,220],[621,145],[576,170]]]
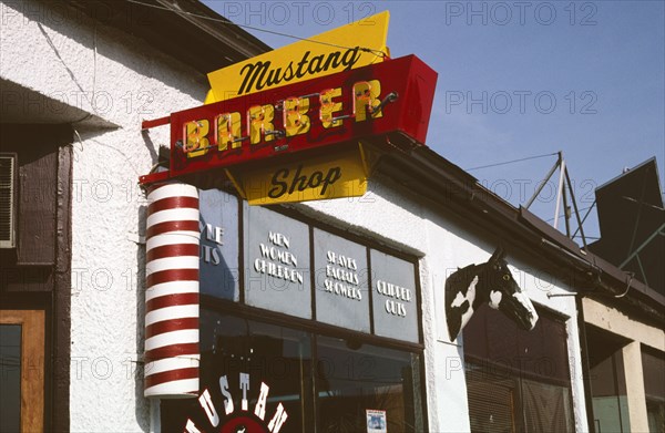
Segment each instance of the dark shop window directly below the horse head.
[[472,432],[572,432],[565,323],[545,311],[531,331],[487,306],[464,328]]

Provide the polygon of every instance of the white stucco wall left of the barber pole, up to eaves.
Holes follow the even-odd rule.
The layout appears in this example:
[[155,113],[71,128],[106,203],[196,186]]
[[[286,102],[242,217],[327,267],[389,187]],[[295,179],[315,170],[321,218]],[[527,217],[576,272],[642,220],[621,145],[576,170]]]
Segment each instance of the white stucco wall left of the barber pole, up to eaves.
[[149,431],[136,371],[145,224],[137,178],[168,145],[168,127],[145,136],[140,127],[201,105],[205,78],[63,4],[8,1],[1,12],[0,76],[33,90],[31,110],[62,122],[44,102],[57,100],[104,121],[73,124],[71,431]]

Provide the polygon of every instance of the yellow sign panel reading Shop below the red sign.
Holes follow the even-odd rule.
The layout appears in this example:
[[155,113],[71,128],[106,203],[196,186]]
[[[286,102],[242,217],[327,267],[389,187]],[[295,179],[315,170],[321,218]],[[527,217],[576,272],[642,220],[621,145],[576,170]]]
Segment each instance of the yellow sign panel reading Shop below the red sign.
[[233,174],[249,205],[358,197],[367,190],[366,165],[358,150]]

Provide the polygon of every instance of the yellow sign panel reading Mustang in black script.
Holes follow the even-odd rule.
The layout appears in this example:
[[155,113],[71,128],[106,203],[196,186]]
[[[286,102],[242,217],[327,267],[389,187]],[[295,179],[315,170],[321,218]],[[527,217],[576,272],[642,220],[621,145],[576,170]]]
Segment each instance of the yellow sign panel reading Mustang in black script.
[[388,11],[208,73],[205,103],[348,71],[388,55]]

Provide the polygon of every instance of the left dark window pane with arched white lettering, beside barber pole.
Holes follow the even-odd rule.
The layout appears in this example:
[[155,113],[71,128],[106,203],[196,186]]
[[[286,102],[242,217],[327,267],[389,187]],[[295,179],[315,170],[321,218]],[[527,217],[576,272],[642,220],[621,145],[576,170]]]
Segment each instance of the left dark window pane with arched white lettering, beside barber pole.
[[[307,399],[311,394],[308,333],[208,310],[202,310],[201,329],[201,390],[209,392],[222,431],[243,425],[247,431],[262,424],[265,427],[282,411],[279,405],[282,413],[287,414],[280,432],[308,431],[305,423],[311,423],[308,414],[313,412],[307,406],[311,404]],[[266,386],[267,400],[260,423],[255,413]],[[227,414],[229,401],[233,411]],[[197,399],[162,401],[165,431],[173,427],[182,432],[188,419],[200,430],[212,427]]]

